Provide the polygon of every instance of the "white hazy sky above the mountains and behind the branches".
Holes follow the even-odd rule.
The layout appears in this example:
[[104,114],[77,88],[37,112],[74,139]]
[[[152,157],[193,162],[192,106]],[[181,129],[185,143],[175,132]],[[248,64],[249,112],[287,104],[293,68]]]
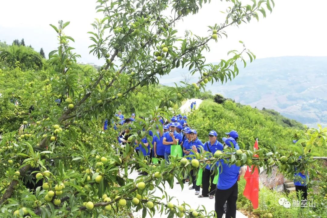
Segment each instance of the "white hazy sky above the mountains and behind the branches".
[[[89,55],[88,31],[93,28],[94,18],[102,18],[102,13],[95,13],[95,0],[0,0],[0,40],[11,43],[14,39],[24,38],[36,51],[43,50],[47,54],[57,47],[55,31],[50,23],[57,26],[58,20],[70,21],[66,27],[67,35],[75,39],[71,46],[82,55],[80,61],[103,64],[92,54]],[[243,1],[247,2],[247,1]],[[242,49],[238,41],[242,40],[257,58],[308,55],[326,56],[326,22],[325,0],[275,0],[276,6],[272,14],[267,11],[267,18],[256,20],[250,24],[242,24],[239,28],[226,29],[228,39],[215,43],[210,42],[211,52],[205,54],[207,61],[219,61],[226,58],[232,49]],[[208,35],[208,25],[223,22],[227,3],[212,0],[197,15],[184,18],[177,23],[179,35],[191,30],[200,36]]]

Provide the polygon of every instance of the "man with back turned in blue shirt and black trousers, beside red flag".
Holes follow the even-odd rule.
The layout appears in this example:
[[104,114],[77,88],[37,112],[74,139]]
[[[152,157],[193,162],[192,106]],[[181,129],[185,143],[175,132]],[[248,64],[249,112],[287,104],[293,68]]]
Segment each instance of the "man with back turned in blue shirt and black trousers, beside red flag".
[[[232,138],[226,138],[225,144],[228,147],[239,149],[236,141]],[[220,166],[219,166],[220,164]],[[215,212],[217,218],[221,218],[224,214],[224,204],[227,201],[226,217],[236,217],[236,201],[238,186],[237,180],[239,176],[245,174],[245,167],[236,166],[236,164],[226,164],[223,160],[216,163],[219,167],[219,178],[215,193]]]

